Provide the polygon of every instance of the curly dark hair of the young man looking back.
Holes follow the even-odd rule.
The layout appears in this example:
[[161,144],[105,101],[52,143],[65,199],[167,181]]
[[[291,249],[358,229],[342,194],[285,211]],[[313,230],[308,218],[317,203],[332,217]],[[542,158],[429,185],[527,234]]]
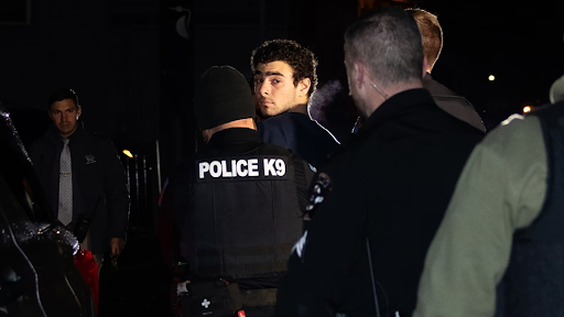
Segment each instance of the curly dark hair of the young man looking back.
[[304,78],[310,78],[312,85],[307,97],[312,97],[317,86],[317,58],[312,51],[303,47],[292,40],[272,40],[262,43],[251,53],[251,70],[257,70],[259,64],[268,64],[276,61],[288,63],[292,67],[294,86]]

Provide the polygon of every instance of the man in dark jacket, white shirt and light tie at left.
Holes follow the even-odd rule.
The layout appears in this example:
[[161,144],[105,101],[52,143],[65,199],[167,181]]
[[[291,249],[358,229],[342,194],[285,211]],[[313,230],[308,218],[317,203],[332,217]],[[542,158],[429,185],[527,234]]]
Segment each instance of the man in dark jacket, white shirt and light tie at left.
[[126,245],[126,174],[111,141],[84,130],[73,89],[55,91],[47,103],[54,124],[30,146],[30,157],[55,218],[73,230],[90,219],[80,242],[101,266],[104,253],[116,258]]

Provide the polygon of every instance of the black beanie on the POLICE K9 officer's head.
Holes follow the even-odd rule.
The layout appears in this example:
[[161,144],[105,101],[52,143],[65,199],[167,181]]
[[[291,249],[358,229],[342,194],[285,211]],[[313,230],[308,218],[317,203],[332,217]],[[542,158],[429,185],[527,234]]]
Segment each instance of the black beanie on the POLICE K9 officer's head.
[[254,118],[254,100],[249,83],[231,66],[210,67],[196,85],[194,113],[202,130]]

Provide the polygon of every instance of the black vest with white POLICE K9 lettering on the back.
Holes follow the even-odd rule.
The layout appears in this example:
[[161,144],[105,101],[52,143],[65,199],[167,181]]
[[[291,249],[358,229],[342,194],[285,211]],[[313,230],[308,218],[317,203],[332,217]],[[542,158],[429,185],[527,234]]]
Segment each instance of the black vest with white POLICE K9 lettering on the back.
[[303,161],[262,144],[243,154],[210,149],[188,168],[191,212],[181,249],[191,272],[239,280],[286,271],[302,233],[296,183],[305,182]]

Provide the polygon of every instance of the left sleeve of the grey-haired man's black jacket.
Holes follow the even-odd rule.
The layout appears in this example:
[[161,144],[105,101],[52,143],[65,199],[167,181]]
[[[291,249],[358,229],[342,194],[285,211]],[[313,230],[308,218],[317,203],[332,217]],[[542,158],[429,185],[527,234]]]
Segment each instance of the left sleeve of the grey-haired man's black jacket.
[[350,199],[358,187],[343,185],[325,197],[295,243],[279,289],[276,316],[335,316],[341,307],[366,232],[365,201]]

